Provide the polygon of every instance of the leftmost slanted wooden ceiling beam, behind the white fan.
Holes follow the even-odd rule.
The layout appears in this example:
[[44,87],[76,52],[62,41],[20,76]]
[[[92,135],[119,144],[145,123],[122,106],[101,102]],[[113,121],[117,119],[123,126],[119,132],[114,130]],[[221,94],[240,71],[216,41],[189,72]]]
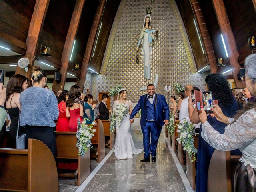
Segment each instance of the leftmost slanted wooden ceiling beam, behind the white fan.
[[22,74],[26,76],[28,79],[30,79],[30,73],[32,67],[34,66],[33,58],[36,55],[38,37],[44,24],[44,19],[48,9],[49,1],[50,0],[36,0],[36,4],[34,6],[34,12],[32,14],[30,26],[28,29],[28,36],[26,39],[27,52],[25,57],[32,61],[28,65],[28,72],[25,72],[25,70],[22,70],[18,66],[16,68],[15,74]]

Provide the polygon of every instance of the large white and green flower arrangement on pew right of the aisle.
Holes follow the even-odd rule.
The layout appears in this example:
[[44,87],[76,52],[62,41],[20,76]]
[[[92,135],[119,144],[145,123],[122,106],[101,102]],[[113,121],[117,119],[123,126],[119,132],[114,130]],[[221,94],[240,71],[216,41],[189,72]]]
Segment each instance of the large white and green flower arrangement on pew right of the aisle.
[[194,146],[194,125],[183,120],[180,122],[177,131],[180,133],[180,137],[177,138],[177,141],[179,144],[182,143],[183,149],[188,152],[190,162],[195,162],[197,149]]

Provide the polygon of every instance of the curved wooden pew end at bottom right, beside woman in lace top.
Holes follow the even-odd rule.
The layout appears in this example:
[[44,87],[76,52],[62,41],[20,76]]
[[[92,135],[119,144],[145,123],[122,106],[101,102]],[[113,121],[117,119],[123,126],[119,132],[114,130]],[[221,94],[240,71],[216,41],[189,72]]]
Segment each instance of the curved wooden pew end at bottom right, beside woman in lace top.
[[208,192],[232,191],[232,175],[241,157],[230,155],[230,151],[214,151],[208,170]]

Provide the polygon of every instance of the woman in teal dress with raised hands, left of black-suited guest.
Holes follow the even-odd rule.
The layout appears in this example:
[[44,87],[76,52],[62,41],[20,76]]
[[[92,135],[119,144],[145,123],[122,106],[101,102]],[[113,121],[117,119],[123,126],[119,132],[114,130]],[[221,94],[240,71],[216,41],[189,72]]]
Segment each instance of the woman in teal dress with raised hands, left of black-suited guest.
[[93,96],[90,94],[87,94],[84,97],[84,109],[85,109],[85,113],[84,113],[84,118],[88,118],[89,120],[86,120],[86,124],[92,124],[92,122],[94,121],[94,108],[96,106],[96,104],[92,104],[93,102]]

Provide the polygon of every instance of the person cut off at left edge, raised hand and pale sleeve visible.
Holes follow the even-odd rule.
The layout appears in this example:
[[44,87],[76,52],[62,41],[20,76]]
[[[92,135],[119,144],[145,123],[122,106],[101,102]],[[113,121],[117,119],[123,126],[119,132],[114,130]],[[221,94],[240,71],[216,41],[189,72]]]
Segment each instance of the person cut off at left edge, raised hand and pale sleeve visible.
[[4,102],[6,100],[6,88],[0,83],[0,147],[2,147],[4,136],[6,133],[6,118],[8,114],[4,108]]

